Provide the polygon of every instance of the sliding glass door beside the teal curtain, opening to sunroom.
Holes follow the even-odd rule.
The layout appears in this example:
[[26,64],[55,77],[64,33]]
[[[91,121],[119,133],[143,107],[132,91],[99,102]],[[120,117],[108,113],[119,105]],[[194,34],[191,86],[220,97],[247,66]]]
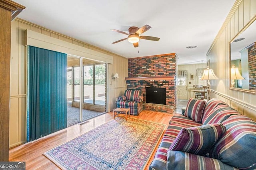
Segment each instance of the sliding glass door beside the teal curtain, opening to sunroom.
[[105,63],[68,56],[67,75],[68,126],[106,112]]

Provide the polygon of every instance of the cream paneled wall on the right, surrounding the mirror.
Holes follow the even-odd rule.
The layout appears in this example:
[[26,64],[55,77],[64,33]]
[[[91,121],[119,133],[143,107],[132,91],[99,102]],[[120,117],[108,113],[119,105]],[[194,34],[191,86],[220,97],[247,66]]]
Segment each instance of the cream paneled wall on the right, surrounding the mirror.
[[210,80],[212,98],[218,98],[256,120],[256,95],[230,90],[229,79],[229,42],[256,15],[256,0],[237,0],[214,39],[208,53],[210,68],[218,80]]

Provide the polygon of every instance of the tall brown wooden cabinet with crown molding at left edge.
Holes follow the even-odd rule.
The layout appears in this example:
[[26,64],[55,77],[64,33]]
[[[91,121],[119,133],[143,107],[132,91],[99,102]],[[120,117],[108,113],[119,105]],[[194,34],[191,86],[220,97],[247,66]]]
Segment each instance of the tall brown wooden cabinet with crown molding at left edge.
[[23,9],[11,0],[0,0],[0,162],[9,160],[11,22]]

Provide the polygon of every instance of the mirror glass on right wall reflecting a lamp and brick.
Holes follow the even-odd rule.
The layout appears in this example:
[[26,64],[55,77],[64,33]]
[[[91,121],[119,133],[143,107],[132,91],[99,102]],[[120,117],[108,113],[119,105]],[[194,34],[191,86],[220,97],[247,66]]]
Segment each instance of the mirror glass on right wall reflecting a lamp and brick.
[[256,17],[230,41],[230,89],[256,94]]

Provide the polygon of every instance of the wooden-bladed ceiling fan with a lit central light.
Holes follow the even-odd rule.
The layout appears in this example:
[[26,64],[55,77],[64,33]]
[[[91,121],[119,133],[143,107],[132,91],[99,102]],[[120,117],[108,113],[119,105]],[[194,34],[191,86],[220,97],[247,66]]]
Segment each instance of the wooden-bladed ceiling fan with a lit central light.
[[147,40],[152,40],[152,41],[158,41],[160,38],[158,37],[151,37],[151,36],[140,36],[140,34],[148,31],[148,29],[150,29],[151,27],[149,25],[144,25],[143,27],[141,27],[140,29],[138,27],[130,27],[128,29],[129,33],[126,33],[126,32],[123,32],[123,31],[119,31],[119,30],[116,30],[116,29],[111,29],[111,31],[116,31],[118,33],[122,33],[122,34],[125,34],[125,35],[128,35],[127,38],[124,38],[124,39],[120,39],[118,41],[115,41],[114,43],[112,44],[115,44],[115,43],[118,43],[120,41],[124,41],[126,39],[128,39],[128,41],[130,43],[133,43],[133,46],[134,47],[138,47],[139,46],[139,41],[140,39],[147,39]]

